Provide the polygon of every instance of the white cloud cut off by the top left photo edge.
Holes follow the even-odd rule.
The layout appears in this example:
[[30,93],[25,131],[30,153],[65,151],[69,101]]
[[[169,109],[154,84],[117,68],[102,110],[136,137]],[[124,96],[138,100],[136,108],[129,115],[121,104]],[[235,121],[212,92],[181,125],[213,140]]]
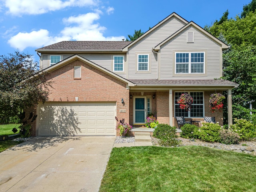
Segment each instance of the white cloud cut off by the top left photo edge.
[[82,7],[96,5],[98,0],[5,0],[7,13],[21,16],[23,14],[37,15],[66,7]]

